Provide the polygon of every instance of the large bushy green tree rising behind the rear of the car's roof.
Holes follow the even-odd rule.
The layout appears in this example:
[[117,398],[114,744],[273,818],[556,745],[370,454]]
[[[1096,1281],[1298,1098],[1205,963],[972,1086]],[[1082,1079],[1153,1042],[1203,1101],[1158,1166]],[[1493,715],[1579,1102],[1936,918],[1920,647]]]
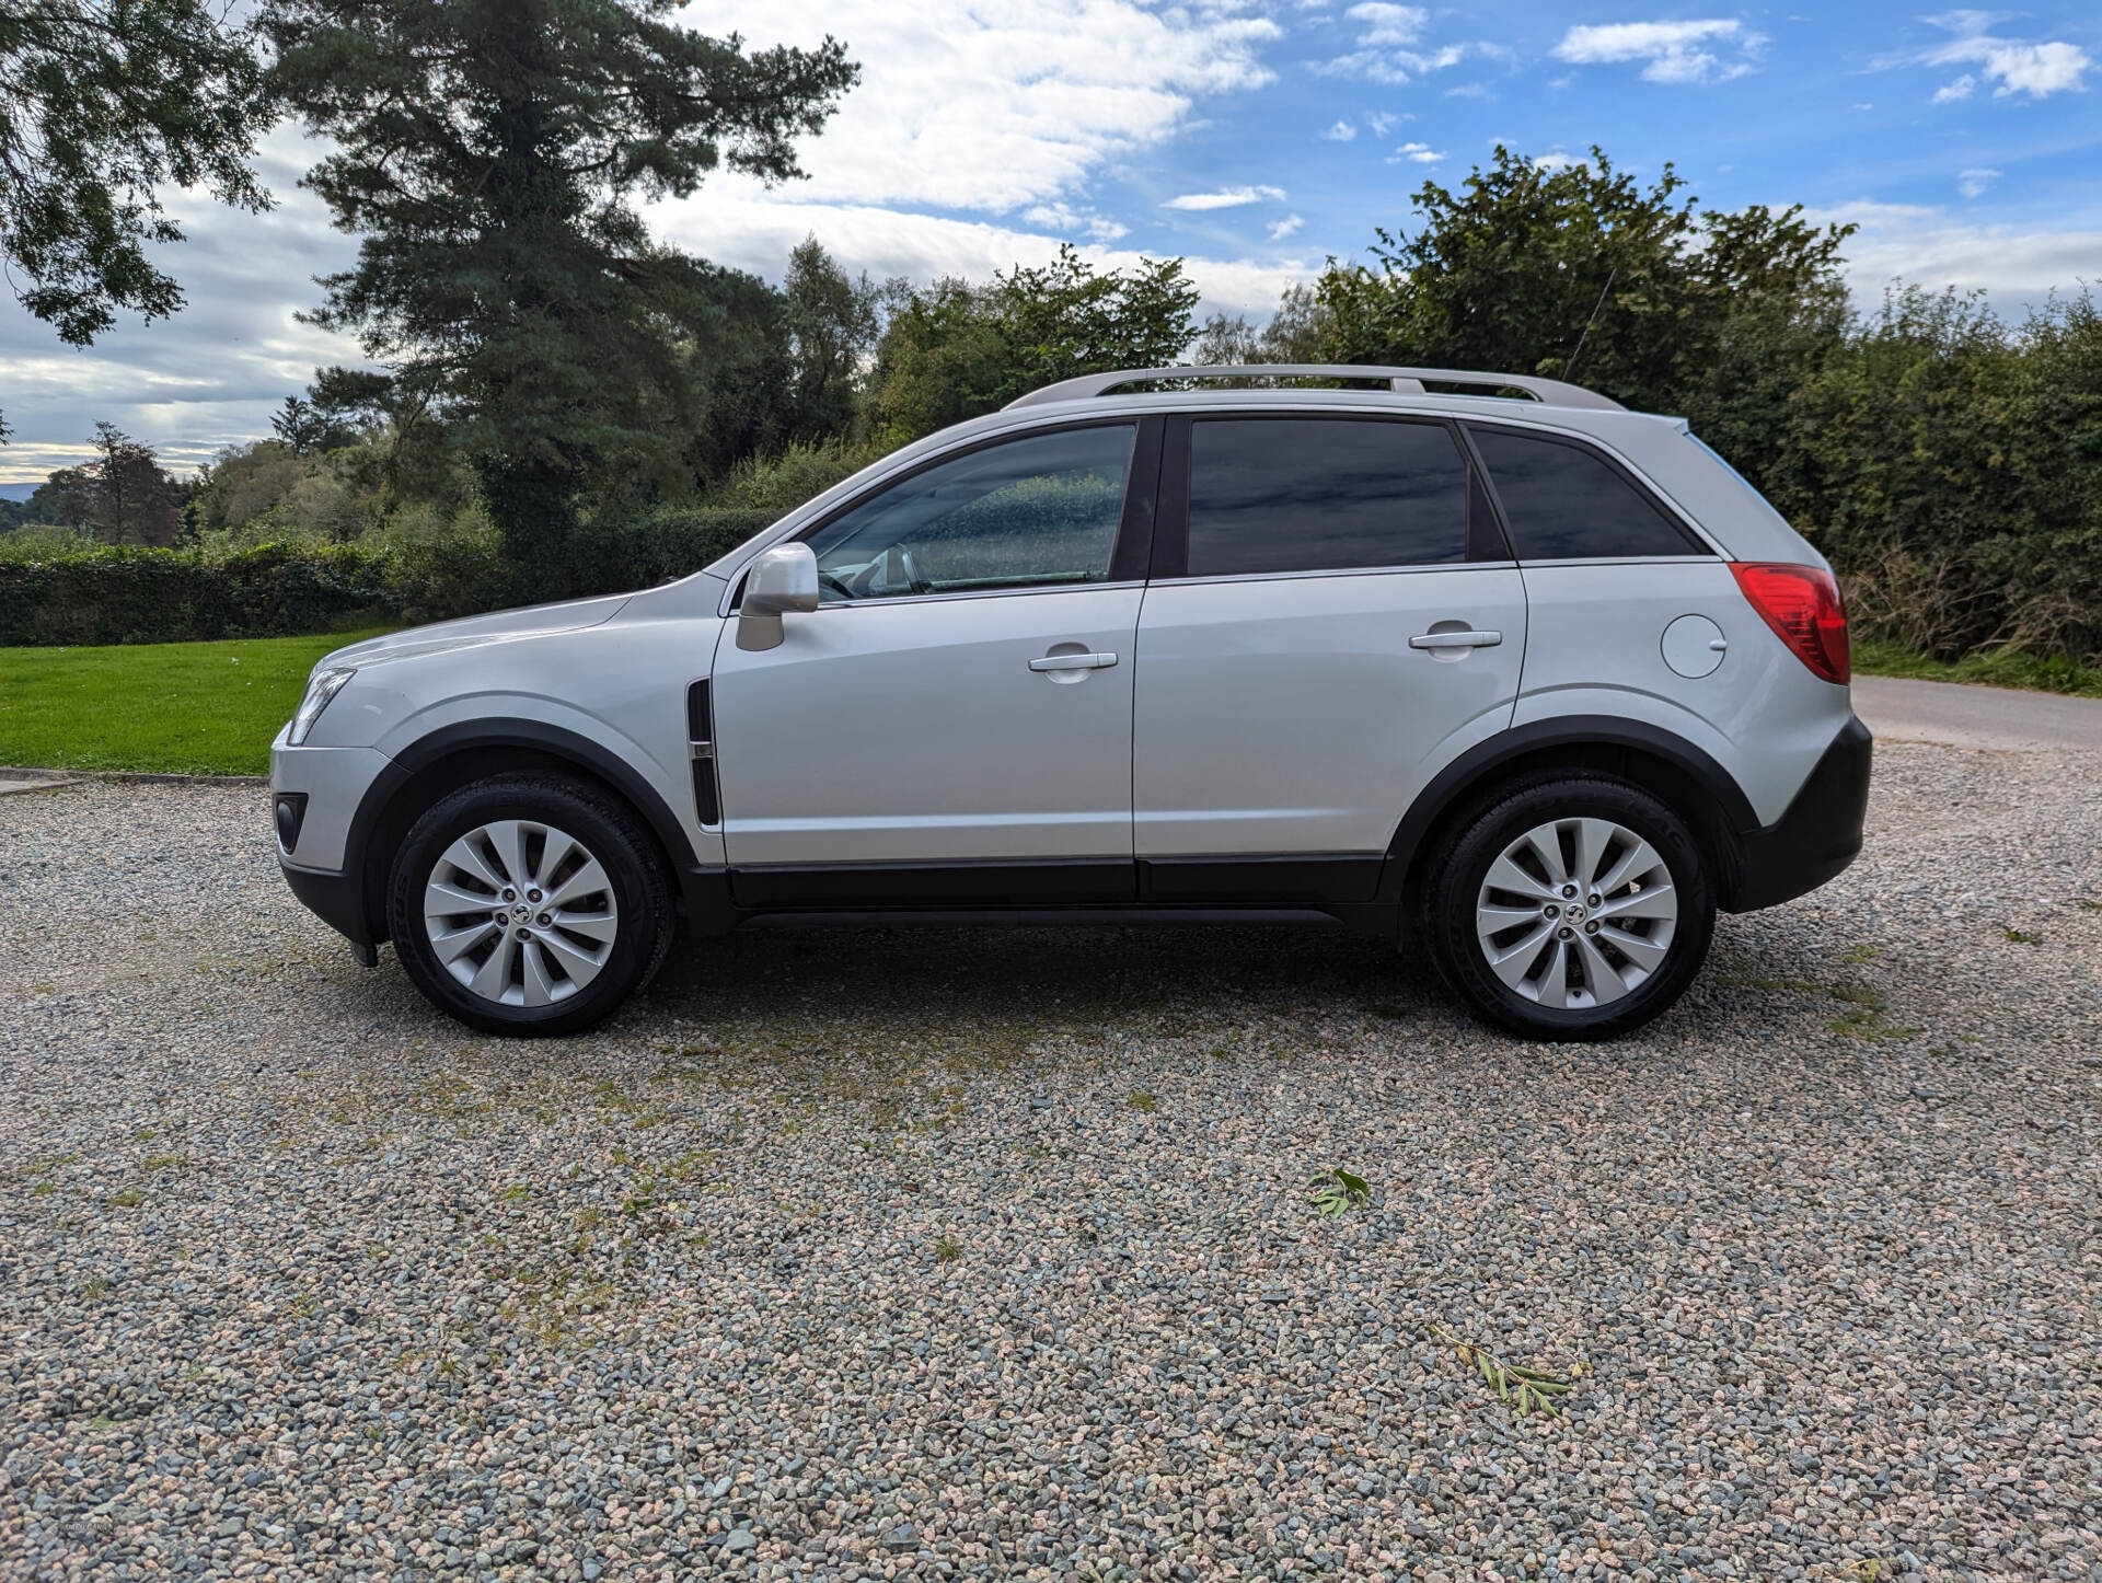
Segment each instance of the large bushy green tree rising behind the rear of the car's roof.
[[1667,164],[1648,191],[1591,160],[1543,168],[1499,145],[1459,193],[1423,183],[1421,223],[1377,231],[1373,267],[1318,286],[1331,357],[1549,374],[1675,410],[1745,315],[1827,311],[1839,246],[1801,208],[1703,212]]

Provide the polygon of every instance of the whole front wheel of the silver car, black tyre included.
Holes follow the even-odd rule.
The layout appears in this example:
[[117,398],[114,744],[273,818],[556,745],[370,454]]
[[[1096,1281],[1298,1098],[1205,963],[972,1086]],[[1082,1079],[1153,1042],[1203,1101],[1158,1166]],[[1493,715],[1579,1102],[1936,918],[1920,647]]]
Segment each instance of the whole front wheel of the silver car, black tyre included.
[[490,1034],[605,1020],[664,965],[673,923],[650,832],[624,803],[559,776],[498,776],[439,799],[387,877],[410,982]]

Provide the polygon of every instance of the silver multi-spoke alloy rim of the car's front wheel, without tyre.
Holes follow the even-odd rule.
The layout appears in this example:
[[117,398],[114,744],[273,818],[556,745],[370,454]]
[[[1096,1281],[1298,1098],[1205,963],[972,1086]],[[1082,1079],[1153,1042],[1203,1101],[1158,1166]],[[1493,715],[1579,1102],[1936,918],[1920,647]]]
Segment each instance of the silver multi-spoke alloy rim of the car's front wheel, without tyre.
[[483,1001],[568,1001],[614,954],[620,904],[582,841],[553,824],[492,820],[433,864],[423,923],[439,965]]

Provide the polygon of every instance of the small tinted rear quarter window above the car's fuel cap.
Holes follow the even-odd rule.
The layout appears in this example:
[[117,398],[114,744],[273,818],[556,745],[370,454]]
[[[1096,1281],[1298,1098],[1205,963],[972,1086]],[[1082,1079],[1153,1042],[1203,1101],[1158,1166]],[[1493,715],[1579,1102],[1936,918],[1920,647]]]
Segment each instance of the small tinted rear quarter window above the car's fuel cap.
[[1511,530],[1518,559],[1703,553],[1686,530],[1604,456],[1509,429],[1469,431],[1503,500],[1503,521]]

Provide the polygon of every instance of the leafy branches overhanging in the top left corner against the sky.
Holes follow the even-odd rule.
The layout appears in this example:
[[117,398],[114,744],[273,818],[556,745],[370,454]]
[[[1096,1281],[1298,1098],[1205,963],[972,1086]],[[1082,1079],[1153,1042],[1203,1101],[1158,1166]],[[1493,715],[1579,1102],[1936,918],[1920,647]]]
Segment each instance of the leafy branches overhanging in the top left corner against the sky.
[[183,290],[147,254],[183,240],[160,191],[267,208],[248,158],[269,120],[250,34],[204,0],[8,0],[0,256],[17,301],[76,347],[118,309],[174,313]]

